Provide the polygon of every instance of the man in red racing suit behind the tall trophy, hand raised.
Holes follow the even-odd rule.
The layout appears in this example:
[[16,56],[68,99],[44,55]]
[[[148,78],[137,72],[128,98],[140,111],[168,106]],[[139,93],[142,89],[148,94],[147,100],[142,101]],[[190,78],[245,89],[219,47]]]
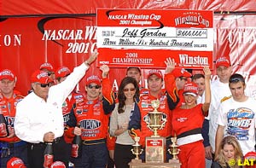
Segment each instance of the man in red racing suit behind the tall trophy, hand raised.
[[[162,118],[166,119],[166,125],[163,129],[158,130],[160,136],[166,137],[166,147],[171,144],[171,116],[172,109],[177,106],[179,98],[177,96],[177,89],[175,86],[175,78],[172,75],[174,69],[174,61],[170,58],[166,60],[166,74],[165,86],[166,89],[161,89],[163,86],[163,76],[160,70],[150,70],[148,74],[148,90],[142,90],[140,93],[140,101],[137,103],[138,109],[135,110],[131,116],[129,123],[129,130],[131,136],[139,136],[140,144],[145,147],[145,138],[153,136],[153,131],[149,130],[146,121],[148,120],[148,113],[154,111],[151,103],[153,100],[159,100],[160,105],[157,109],[163,113]],[[167,152],[166,159],[171,159],[171,155]],[[144,154],[141,155],[144,159]]]

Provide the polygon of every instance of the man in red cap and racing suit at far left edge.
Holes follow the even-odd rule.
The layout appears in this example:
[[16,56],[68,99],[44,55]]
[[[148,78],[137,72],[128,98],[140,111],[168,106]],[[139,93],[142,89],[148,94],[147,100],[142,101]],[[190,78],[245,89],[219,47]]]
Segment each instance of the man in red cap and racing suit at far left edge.
[[[20,91],[14,90],[16,80],[11,70],[4,69],[0,72],[0,113],[3,114],[7,127],[0,127],[1,167],[7,167],[7,161],[12,157],[19,157],[27,164],[26,142],[20,141],[14,130],[16,106],[23,99]],[[2,132],[6,133],[7,130],[9,135],[3,135]]]

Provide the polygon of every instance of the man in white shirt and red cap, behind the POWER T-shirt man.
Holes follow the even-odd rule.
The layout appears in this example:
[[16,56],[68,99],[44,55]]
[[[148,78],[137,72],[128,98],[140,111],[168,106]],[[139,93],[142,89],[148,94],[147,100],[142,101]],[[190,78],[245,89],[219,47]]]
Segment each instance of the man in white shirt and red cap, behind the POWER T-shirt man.
[[[212,81],[211,91],[212,99],[209,109],[209,139],[212,147],[212,153],[215,151],[215,135],[217,131],[217,119],[218,119],[218,106],[224,97],[231,96],[229,88],[229,79],[232,74],[233,68],[230,65],[230,60],[226,57],[219,57],[216,61],[216,72],[218,79]],[[212,158],[213,159],[213,158]]]

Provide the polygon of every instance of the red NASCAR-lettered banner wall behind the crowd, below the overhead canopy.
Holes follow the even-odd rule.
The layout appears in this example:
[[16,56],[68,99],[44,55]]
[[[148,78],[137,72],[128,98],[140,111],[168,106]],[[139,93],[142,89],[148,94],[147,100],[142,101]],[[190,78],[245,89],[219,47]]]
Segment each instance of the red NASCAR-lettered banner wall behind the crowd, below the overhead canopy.
[[[256,97],[256,16],[214,15],[213,19],[213,61],[217,55],[224,53],[224,43],[229,40],[233,72],[239,72],[246,78],[247,95]],[[23,95],[30,90],[32,72],[45,61],[55,69],[60,66],[73,69],[85,61],[90,51],[96,47],[96,17],[9,18],[2,20],[0,24],[0,70],[9,68],[15,72],[18,78],[15,89],[20,90]],[[100,53],[99,57],[104,55]],[[125,71],[126,68],[110,69],[114,90],[119,89],[119,82],[125,77]],[[96,63],[91,65],[86,76],[91,74],[101,75]],[[212,79],[216,78],[215,74],[213,64]],[[148,69],[142,69],[142,85],[145,87],[147,75]],[[80,82],[79,89],[84,90],[84,79]]]

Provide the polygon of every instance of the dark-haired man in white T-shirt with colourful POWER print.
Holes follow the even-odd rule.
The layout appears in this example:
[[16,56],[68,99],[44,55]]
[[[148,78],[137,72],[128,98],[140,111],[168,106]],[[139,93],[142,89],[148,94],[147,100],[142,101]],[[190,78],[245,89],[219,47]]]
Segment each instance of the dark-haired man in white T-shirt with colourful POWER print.
[[223,101],[218,109],[215,155],[219,154],[224,136],[236,136],[242,154],[255,151],[256,101],[245,96],[245,79],[235,73],[230,77],[232,96]]

